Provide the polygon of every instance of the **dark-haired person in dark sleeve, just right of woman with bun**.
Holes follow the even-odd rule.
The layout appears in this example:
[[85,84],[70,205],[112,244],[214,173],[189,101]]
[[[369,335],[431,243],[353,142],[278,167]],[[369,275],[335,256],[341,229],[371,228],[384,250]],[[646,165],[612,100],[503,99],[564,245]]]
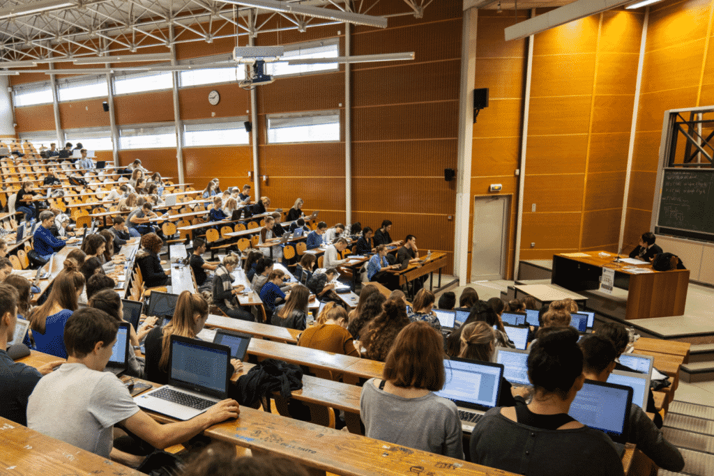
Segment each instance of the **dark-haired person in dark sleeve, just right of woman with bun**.
[[[615,368],[617,351],[613,343],[601,335],[588,335],[580,340],[580,349],[583,350],[585,378],[607,382],[608,376]],[[683,469],[682,454],[665,440],[654,422],[634,402],[630,406],[630,417],[626,426],[628,442],[635,443],[637,449],[653,460],[655,465],[671,472],[680,472]]]

